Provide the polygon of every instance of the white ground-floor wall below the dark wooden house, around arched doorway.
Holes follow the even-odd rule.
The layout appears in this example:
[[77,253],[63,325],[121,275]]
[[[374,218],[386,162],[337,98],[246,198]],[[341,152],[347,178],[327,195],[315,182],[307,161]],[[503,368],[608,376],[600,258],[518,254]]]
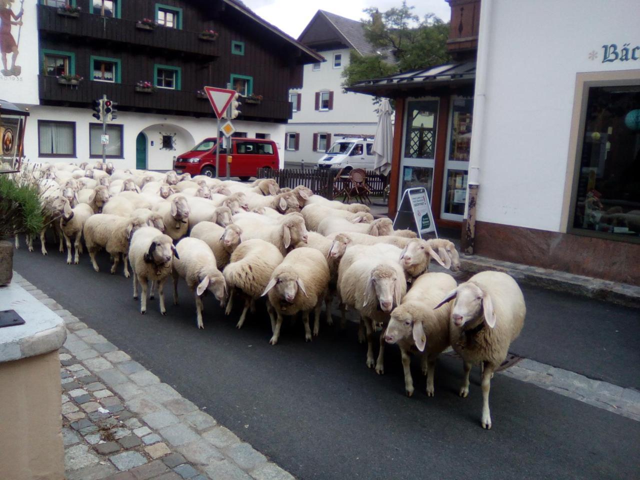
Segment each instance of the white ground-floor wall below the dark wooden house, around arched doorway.
[[[51,159],[38,156],[38,120],[64,120],[76,122],[76,158],[68,161],[81,163],[95,162],[89,159],[89,124],[95,123],[93,111],[89,108],[63,108],[49,106],[35,106],[31,108],[31,116],[27,122],[24,152],[29,161],[67,161],[67,158]],[[204,138],[215,136],[216,121],[210,118],[192,118],[188,116],[151,115],[147,113],[118,112],[117,120],[113,124],[124,125],[123,142],[124,158],[109,159],[120,168],[135,168],[136,166],[136,138],[141,131],[147,134],[148,169],[170,170],[173,157],[190,150]],[[280,166],[284,164],[284,124],[268,122],[244,122],[234,120],[236,131],[246,132],[249,137],[256,133],[269,134],[269,138],[278,146]],[[161,149],[161,132],[176,134],[175,150]],[[154,145],[150,145],[151,141]]]

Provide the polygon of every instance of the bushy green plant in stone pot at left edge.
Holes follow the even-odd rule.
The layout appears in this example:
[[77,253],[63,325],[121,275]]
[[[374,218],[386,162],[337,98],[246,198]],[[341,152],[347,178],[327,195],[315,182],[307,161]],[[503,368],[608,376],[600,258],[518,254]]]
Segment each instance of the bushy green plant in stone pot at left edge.
[[10,174],[0,175],[0,285],[13,276],[13,244],[18,234],[36,235],[44,227],[38,184]]

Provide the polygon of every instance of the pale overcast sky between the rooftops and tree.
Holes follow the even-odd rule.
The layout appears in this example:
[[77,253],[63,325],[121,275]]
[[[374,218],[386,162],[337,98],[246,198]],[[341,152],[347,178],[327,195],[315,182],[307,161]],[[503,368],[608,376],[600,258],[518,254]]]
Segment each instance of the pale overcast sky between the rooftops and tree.
[[[293,38],[298,38],[319,9],[348,19],[360,20],[365,16],[362,12],[364,8],[376,6],[384,12],[402,4],[401,0],[323,0],[318,3],[305,0],[243,0],[243,2],[253,12]],[[408,0],[407,4],[415,6],[413,12],[420,18],[424,17],[425,13],[435,13],[436,16],[448,22],[451,15],[451,7],[445,0]]]

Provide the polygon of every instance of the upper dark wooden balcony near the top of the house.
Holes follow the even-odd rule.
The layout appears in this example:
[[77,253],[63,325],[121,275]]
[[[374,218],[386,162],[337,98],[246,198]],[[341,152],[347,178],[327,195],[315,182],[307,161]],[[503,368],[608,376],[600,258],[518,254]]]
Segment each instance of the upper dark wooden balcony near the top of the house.
[[95,40],[101,45],[104,42],[131,45],[132,48],[142,45],[165,53],[190,54],[202,60],[212,60],[212,57],[220,55],[218,42],[198,38],[200,32],[163,26],[144,30],[136,27],[138,20],[113,19],[85,12],[80,12],[77,17],[68,17],[60,15],[58,9],[51,6],[38,5],[37,8],[41,32]]

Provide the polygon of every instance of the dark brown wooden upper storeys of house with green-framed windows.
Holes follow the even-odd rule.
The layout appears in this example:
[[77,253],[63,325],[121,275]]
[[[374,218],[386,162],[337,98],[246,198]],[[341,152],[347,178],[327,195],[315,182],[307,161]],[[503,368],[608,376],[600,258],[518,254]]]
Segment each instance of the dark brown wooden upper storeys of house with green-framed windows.
[[[227,87],[232,74],[253,78],[252,92],[262,95],[260,104],[244,103],[241,120],[286,122],[291,118],[289,88],[302,84],[302,65],[318,61],[292,39],[277,35],[250,15],[230,8],[229,3],[162,0],[182,9],[182,28],[157,26],[141,30],[136,23],[154,19],[156,2],[122,2],[120,18],[90,13],[90,0],[77,0],[82,12],[77,18],[60,15],[56,8],[38,6],[40,49],[72,52],[79,86],[59,85],[55,77],[40,75],[42,104],[89,107],[106,93],[123,111],[150,111],[177,115],[212,116],[206,99],[196,92],[205,85]],[[214,42],[199,34],[208,29],[219,33]],[[244,43],[244,54],[232,54],[232,41]],[[91,56],[120,60],[120,83],[91,81]],[[321,57],[319,57],[321,58]],[[135,92],[139,81],[154,81],[154,65],[179,67],[180,90],[157,89]],[[43,69],[44,70],[44,69]]]

